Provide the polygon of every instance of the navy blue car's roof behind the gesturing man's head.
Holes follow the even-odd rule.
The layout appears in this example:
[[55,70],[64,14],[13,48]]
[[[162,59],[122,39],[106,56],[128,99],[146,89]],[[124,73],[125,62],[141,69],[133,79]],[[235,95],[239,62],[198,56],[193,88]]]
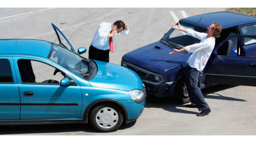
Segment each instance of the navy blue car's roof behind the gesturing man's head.
[[183,18],[180,21],[199,25],[204,28],[208,28],[211,23],[217,22],[222,26],[222,29],[234,27],[237,25],[243,25],[247,23],[255,23],[256,18],[245,14],[239,14],[236,12],[212,12],[208,14],[200,14],[196,16],[190,16]]

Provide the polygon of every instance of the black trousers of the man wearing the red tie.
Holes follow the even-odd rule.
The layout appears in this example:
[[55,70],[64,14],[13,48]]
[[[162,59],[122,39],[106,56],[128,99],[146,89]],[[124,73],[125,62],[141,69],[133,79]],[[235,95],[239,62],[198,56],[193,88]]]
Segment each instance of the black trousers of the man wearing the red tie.
[[89,48],[89,59],[100,60],[103,62],[109,62],[109,50],[100,50],[94,46]]

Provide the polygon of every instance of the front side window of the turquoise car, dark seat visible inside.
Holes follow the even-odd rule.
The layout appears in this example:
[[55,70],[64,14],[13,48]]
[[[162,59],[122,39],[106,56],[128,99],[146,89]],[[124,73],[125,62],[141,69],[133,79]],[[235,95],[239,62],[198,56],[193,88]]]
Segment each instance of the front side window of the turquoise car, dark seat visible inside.
[[34,60],[18,60],[18,67],[22,83],[59,84],[65,76],[63,72],[53,75],[55,67]]

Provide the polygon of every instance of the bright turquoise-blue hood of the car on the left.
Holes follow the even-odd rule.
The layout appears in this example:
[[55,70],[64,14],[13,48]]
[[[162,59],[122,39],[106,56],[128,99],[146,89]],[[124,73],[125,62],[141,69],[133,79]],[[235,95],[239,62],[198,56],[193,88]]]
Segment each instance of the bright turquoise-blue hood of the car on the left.
[[96,62],[98,70],[96,76],[89,81],[92,87],[126,91],[142,90],[142,81],[134,71],[109,62],[93,61]]

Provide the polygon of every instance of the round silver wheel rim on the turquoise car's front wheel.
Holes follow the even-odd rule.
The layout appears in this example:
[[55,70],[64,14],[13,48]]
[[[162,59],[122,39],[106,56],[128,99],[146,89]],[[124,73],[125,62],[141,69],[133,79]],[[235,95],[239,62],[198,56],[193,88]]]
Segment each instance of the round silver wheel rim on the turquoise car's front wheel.
[[110,107],[100,109],[95,117],[97,125],[104,129],[114,127],[118,122],[118,113]]

